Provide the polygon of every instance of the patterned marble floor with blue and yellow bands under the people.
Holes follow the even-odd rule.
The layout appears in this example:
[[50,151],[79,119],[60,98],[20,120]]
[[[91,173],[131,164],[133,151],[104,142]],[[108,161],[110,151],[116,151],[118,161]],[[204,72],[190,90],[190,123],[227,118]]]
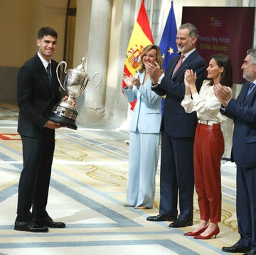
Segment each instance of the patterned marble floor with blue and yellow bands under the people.
[[[226,254],[222,246],[239,238],[235,215],[235,165],[222,163],[223,208],[220,234],[206,241],[183,236],[193,227],[169,228],[148,222],[158,214],[159,170],[153,209],[124,207],[127,131],[58,129],[48,198],[48,212],[65,229],[48,233],[14,230],[18,179],[22,169],[16,107],[0,103],[0,254]],[[194,196],[194,224],[198,224]]]

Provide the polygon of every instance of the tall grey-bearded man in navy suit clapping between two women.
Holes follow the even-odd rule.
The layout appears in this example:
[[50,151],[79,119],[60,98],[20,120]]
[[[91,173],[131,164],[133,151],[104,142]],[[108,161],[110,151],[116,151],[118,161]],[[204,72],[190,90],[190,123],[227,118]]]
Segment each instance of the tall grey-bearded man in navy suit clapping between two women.
[[183,24],[176,36],[181,56],[171,59],[165,74],[157,63],[146,65],[154,92],[166,95],[161,121],[159,215],[149,216],[147,220],[170,221],[169,227],[193,224],[193,140],[197,116],[196,112],[187,114],[181,107],[181,101],[185,95],[185,70],[196,72],[198,91],[206,76],[205,60],[196,51],[197,39],[197,28],[191,23]]

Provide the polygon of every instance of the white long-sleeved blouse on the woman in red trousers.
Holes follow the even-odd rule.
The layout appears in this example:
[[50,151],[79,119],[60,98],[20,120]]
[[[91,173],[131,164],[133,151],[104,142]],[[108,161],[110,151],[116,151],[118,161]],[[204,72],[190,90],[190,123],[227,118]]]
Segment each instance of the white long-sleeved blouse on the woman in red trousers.
[[181,106],[187,113],[195,111],[198,119],[201,120],[221,123],[227,119],[226,116],[220,113],[220,102],[215,97],[213,86],[210,86],[208,82],[203,83],[199,94],[194,93],[192,98],[191,94],[185,95]]

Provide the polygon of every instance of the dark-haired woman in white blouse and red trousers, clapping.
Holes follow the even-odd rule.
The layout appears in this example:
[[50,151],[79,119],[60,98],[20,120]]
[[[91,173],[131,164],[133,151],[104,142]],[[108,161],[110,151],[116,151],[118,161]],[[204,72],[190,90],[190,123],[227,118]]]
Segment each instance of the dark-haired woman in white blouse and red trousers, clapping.
[[221,220],[220,161],[224,153],[220,123],[226,117],[220,114],[220,102],[213,92],[214,85],[233,87],[233,68],[227,55],[210,57],[207,68],[210,82],[196,89],[196,73],[186,70],[186,94],[181,102],[186,112],[196,111],[198,124],[193,149],[195,186],[201,221],[193,232],[185,233],[195,239],[210,239],[219,234]]

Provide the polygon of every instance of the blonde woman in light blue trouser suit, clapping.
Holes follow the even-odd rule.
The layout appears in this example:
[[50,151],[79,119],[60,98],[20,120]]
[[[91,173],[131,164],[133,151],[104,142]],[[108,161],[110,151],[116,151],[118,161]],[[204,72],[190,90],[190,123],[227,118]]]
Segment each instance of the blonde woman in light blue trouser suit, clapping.
[[161,52],[156,45],[142,51],[139,72],[135,77],[124,74],[124,94],[128,102],[137,99],[132,114],[129,136],[129,175],[127,204],[135,209],[154,206],[155,175],[159,159],[161,97],[151,90],[151,80],[145,63],[161,66]]

